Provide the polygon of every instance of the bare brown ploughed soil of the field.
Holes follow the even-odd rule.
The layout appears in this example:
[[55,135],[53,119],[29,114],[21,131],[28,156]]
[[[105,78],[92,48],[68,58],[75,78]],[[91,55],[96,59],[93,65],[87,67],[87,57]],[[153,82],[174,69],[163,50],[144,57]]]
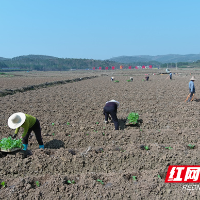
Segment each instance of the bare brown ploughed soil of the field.
[[[143,81],[145,73],[151,73],[149,81]],[[153,73],[46,73],[35,75],[37,83],[33,75],[22,74],[18,82],[15,76],[3,77],[1,89],[98,76],[0,97],[1,138],[13,133],[8,117],[24,112],[39,119],[45,143],[45,150],[39,150],[33,136],[27,152],[0,153],[0,182],[6,183],[0,199],[198,199],[199,191],[164,182],[169,165],[200,165],[200,102],[184,102],[191,75],[180,71],[166,80],[167,75]],[[126,81],[130,76],[133,82]],[[119,131],[113,123],[104,124],[103,107],[111,99],[120,102]],[[138,126],[125,126],[130,112],[138,112]]]

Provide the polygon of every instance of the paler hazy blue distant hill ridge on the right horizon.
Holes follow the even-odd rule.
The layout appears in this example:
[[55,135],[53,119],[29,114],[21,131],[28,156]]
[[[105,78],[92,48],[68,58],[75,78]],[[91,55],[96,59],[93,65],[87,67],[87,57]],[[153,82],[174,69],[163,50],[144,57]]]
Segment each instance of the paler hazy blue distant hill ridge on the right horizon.
[[176,63],[176,62],[196,62],[200,60],[200,54],[168,54],[168,55],[158,55],[158,56],[119,56],[109,59],[110,61],[120,62],[120,63],[135,63],[135,62],[150,62],[157,61],[159,63]]

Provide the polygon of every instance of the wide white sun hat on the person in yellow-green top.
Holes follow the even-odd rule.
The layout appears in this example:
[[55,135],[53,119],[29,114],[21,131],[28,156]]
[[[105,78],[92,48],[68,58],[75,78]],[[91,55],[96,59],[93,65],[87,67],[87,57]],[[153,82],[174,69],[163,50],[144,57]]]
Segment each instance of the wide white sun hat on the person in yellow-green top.
[[22,112],[14,113],[8,118],[8,126],[11,129],[20,127],[26,120],[26,115]]

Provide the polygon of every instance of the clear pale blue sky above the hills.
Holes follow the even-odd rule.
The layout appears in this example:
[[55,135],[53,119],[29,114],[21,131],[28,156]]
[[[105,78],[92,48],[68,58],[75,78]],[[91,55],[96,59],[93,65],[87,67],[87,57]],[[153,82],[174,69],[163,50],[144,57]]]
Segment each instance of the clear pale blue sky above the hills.
[[199,54],[199,0],[0,0],[0,57]]

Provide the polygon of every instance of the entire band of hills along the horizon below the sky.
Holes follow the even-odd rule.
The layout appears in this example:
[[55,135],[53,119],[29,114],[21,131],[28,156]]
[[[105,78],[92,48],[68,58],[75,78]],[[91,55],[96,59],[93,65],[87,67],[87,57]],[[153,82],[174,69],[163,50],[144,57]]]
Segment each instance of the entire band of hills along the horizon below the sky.
[[[198,62],[196,62],[198,61]],[[24,55],[14,58],[0,57],[0,70],[38,70],[38,71],[66,71],[66,70],[91,70],[101,67],[111,69],[115,66],[120,69],[123,65],[124,69],[129,66],[148,66],[152,65],[153,68],[166,68],[167,63],[170,67],[200,67],[200,54],[188,55],[159,55],[159,56],[119,56],[109,60],[94,60],[94,59],[74,59],[74,58],[57,58],[46,55]],[[196,62],[196,64],[195,64]],[[190,64],[189,64],[190,63]]]

